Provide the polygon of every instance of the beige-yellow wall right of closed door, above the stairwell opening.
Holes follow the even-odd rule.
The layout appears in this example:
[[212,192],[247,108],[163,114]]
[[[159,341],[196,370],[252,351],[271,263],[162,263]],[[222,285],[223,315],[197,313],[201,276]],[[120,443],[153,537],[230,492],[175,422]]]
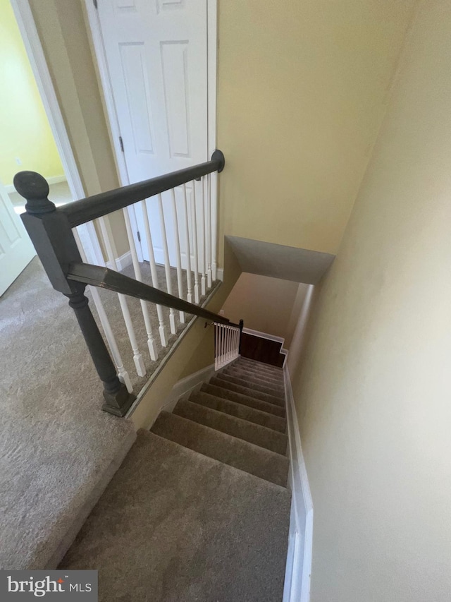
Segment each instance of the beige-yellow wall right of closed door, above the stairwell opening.
[[220,241],[336,253],[414,4],[219,2]]

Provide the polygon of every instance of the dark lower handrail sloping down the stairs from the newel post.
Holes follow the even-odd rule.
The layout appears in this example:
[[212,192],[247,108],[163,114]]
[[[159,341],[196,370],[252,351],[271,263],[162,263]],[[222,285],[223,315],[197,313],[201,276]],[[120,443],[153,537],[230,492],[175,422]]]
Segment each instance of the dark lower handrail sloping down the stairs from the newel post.
[[149,284],[139,282],[134,278],[129,278],[119,272],[110,270],[108,267],[101,267],[100,265],[92,265],[90,263],[71,263],[67,278],[69,280],[75,280],[75,282],[90,284],[92,287],[109,289],[116,293],[135,297],[136,299],[142,299],[143,301],[171,307],[178,311],[192,313],[193,315],[199,316],[199,318],[205,318],[212,322],[240,328],[239,324],[230,322],[230,320],[224,318],[223,315],[218,315],[217,313],[208,311],[193,303],[188,303],[188,301],[184,301],[183,299],[179,299],[164,291],[155,289]]

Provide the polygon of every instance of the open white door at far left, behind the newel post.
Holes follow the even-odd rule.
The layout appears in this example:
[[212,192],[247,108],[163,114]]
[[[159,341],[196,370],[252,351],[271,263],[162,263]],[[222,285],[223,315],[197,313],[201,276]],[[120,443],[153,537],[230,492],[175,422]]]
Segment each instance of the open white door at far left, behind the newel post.
[[35,248],[0,183],[0,295],[36,255]]

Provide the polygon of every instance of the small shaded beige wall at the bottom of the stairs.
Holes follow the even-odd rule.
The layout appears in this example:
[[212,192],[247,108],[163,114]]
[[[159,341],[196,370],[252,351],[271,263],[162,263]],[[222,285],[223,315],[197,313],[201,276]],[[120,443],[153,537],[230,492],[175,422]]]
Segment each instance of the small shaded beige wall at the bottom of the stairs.
[[222,309],[235,324],[285,339],[298,289],[298,282],[242,272]]

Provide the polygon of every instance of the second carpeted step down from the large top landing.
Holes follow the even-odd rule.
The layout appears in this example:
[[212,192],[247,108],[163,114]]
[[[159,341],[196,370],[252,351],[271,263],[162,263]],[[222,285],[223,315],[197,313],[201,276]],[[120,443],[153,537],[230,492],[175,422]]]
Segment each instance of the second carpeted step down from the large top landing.
[[288,438],[284,433],[279,433],[266,426],[237,418],[237,416],[224,414],[222,411],[187,401],[187,399],[180,399],[178,401],[173,409],[173,414],[183,416],[183,418],[203,424],[204,426],[209,426],[216,431],[232,435],[237,439],[248,441],[260,447],[266,447],[267,450],[276,452],[276,454],[285,455],[287,452]]

